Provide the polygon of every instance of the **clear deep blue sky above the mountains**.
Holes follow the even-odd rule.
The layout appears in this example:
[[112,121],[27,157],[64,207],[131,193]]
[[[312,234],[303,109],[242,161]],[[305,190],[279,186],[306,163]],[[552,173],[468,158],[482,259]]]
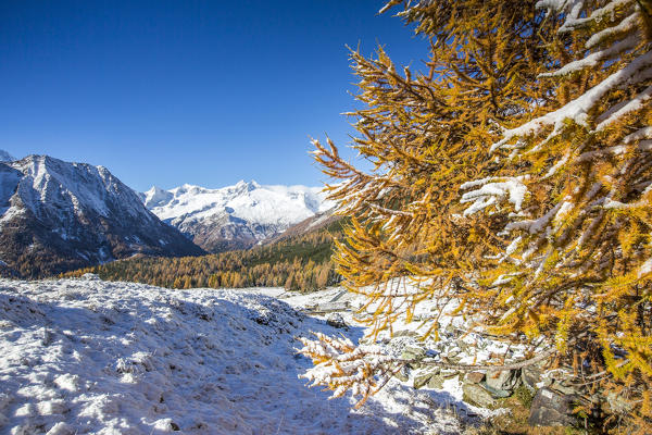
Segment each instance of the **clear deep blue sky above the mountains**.
[[0,1],[0,149],[102,164],[137,190],[319,185],[309,137],[353,133],[344,46],[426,57],[383,4]]

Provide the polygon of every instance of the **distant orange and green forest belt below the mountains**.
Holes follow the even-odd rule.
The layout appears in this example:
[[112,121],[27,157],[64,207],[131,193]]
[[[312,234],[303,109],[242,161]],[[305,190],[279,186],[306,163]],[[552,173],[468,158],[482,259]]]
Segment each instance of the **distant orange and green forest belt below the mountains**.
[[61,276],[95,273],[105,281],[129,281],[167,288],[285,287],[311,291],[340,279],[331,261],[340,221],[269,246],[202,257],[142,257],[79,269]]

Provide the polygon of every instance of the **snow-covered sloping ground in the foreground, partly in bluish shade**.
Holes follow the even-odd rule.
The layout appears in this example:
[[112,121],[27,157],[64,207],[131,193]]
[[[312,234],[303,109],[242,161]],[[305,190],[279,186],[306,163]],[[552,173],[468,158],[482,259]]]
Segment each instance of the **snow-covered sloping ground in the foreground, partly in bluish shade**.
[[296,309],[338,295],[0,279],[0,433],[460,433],[454,386],[392,380],[359,410],[305,386],[296,337],[363,335]]

